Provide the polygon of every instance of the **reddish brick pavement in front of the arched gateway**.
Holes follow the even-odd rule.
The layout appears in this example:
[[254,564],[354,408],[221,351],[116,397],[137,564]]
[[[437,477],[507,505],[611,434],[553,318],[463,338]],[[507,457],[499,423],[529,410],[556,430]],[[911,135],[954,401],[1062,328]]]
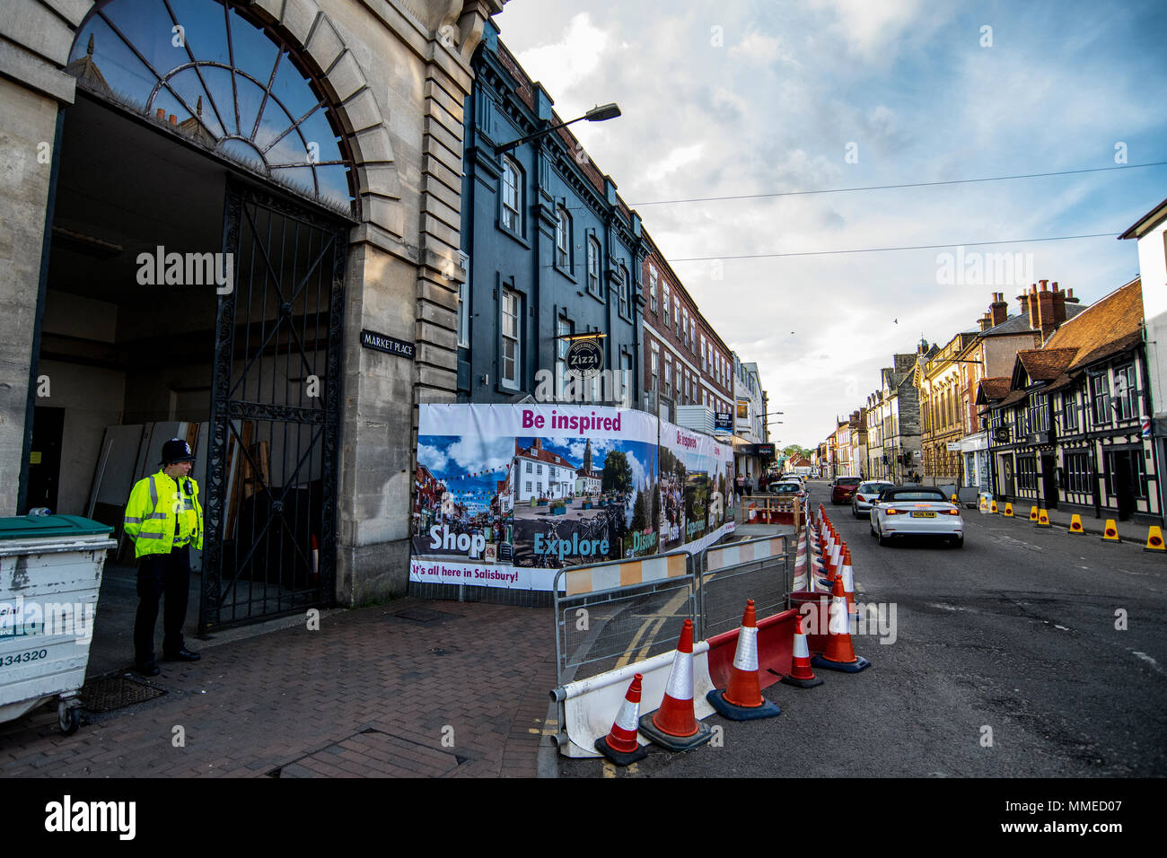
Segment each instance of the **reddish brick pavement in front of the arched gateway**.
[[[439,615],[394,616],[411,608]],[[165,696],[71,737],[55,710],[0,725],[0,775],[536,776],[550,608],[403,599],[202,651],[160,663]]]

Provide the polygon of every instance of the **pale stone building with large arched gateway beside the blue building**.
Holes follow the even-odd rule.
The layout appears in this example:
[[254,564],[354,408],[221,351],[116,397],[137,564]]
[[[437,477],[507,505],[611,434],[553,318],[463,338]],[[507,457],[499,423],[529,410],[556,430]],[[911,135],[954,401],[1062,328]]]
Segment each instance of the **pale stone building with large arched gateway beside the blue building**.
[[[212,588],[404,591],[414,406],[456,396],[470,62],[503,1],[5,4],[0,514],[50,463],[85,514],[111,426],[202,427]],[[155,246],[233,252],[235,281],[144,285]],[[307,583],[240,568],[268,537],[225,528],[257,495]],[[238,621],[218,599],[208,625]]]

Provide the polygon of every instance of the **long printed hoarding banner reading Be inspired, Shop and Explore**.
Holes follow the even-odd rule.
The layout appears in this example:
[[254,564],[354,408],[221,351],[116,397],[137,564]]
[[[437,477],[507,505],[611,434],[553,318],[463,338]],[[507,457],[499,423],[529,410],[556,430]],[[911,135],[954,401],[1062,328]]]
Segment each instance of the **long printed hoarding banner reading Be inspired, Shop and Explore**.
[[729,445],[652,414],[422,404],[418,419],[410,580],[548,591],[565,566],[697,551],[733,526]]

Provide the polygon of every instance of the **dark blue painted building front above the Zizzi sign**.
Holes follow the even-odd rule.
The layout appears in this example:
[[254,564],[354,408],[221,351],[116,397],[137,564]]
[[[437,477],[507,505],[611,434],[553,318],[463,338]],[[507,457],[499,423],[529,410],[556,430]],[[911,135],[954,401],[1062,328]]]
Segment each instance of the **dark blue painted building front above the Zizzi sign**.
[[[518,168],[522,200],[518,229],[504,225],[503,156],[495,147],[550,127],[552,102],[531,85],[534,107],[517,89],[518,81],[501,57],[505,50],[491,22],[475,55],[476,78],[466,104],[466,175],[462,186],[462,250],[469,256],[469,285],[463,313],[468,342],[459,348],[459,400],[511,402],[536,392],[536,371],[554,371],[558,320],[573,332],[599,330],[608,368],[631,370],[633,403],[641,386],[641,261],[648,253],[640,218],[620,211],[616,187],[605,179],[600,191],[582,172],[559,132],[527,141],[506,156]],[[561,117],[573,119],[574,117]],[[620,119],[609,121],[619,123]],[[585,156],[586,158],[586,156]],[[569,253],[555,264],[557,210],[571,217]],[[588,288],[587,246],[600,245],[598,294]],[[620,312],[620,287],[628,278],[628,312]],[[518,388],[501,383],[501,305],[504,290],[519,297],[520,364]],[[484,381],[489,379],[489,381]]]

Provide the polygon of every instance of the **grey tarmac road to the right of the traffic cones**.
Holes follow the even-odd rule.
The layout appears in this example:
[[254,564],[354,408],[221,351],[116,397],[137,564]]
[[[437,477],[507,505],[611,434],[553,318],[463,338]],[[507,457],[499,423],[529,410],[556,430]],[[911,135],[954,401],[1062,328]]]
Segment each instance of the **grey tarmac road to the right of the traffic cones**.
[[[733,723],[720,747],[655,746],[628,768],[567,776],[1130,777],[1167,774],[1167,557],[1028,521],[964,512],[965,546],[879,547],[866,518],[812,509],[851,547],[858,600],[894,626],[854,637],[873,667],[763,695],[780,717]],[[1123,613],[1125,612],[1125,629]],[[894,637],[894,642],[892,642]]]

